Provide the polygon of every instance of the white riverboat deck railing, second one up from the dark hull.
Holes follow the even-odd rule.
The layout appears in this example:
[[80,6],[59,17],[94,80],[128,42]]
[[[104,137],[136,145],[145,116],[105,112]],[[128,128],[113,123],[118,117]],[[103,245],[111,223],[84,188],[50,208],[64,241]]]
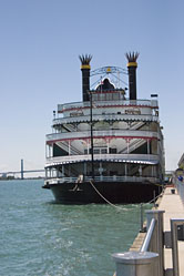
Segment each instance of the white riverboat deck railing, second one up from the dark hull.
[[[131,162],[137,164],[157,164],[159,155],[153,154],[94,154],[94,161],[112,161],[112,162]],[[68,156],[57,156],[48,157],[47,166],[74,163],[74,162],[86,162],[91,161],[91,155],[68,155]]]

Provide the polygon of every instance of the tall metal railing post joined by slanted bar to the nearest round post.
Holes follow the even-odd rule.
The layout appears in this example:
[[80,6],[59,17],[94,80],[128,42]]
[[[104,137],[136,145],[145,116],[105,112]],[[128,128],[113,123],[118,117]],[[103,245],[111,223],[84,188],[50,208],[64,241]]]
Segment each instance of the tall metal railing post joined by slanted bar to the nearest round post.
[[161,209],[149,209],[145,211],[147,217],[147,229],[151,224],[152,218],[156,219],[156,229],[155,229],[155,243],[153,252],[159,253],[159,274],[157,276],[164,275],[164,234],[163,234],[163,214],[165,211]]

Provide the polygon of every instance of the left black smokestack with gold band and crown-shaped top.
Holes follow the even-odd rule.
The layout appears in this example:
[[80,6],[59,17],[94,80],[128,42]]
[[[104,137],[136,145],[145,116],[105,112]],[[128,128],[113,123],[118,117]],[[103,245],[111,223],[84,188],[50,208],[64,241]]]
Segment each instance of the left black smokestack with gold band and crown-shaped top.
[[90,90],[90,61],[92,59],[91,54],[80,55],[81,71],[82,71],[82,95],[83,102],[90,101],[89,90]]

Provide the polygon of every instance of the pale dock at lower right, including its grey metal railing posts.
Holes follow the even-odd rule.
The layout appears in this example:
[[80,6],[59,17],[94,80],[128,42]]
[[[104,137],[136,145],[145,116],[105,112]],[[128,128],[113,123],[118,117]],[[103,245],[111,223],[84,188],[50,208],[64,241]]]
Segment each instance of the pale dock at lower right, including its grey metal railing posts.
[[184,183],[166,186],[130,251],[113,254],[116,276],[184,276]]

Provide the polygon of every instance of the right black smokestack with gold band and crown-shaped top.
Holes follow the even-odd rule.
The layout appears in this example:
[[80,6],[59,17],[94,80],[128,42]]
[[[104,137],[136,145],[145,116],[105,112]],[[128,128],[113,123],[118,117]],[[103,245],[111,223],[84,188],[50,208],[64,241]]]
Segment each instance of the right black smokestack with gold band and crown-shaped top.
[[136,100],[136,60],[139,58],[139,53],[126,53],[125,57],[127,59],[130,100]]

